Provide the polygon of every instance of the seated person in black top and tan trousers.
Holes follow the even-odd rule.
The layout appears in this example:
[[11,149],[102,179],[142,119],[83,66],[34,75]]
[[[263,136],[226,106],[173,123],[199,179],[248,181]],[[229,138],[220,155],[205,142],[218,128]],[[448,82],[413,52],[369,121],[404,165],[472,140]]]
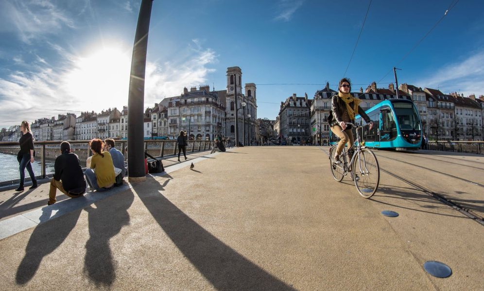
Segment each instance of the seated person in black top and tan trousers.
[[82,172],[79,157],[70,152],[69,142],[61,143],[61,155],[55,159],[54,177],[51,179],[49,202],[55,203],[55,193],[59,189],[70,198],[81,197],[86,192],[86,180]]

